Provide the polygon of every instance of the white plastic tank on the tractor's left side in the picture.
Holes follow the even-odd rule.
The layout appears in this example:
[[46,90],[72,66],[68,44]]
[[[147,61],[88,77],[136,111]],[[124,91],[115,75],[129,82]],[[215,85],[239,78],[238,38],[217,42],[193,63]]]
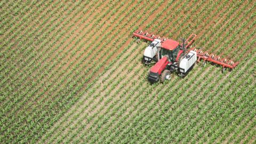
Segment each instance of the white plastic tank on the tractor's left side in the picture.
[[[154,58],[157,52],[157,46],[161,46],[160,39],[154,39],[154,41],[149,44],[149,46],[144,51],[145,60],[149,61],[149,58]],[[146,58],[148,57],[148,58]]]

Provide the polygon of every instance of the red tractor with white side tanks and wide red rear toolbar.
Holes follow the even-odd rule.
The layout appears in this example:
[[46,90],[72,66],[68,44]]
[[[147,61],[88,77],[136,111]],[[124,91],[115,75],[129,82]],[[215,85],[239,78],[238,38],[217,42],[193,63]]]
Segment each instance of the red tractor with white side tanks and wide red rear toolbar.
[[149,70],[148,81],[150,83],[158,82],[159,79],[161,82],[164,82],[165,79],[170,80],[171,73],[175,71],[180,76],[186,76],[195,65],[195,62],[199,60],[204,60],[204,63],[211,61],[221,65],[222,70],[226,68],[233,69],[238,65],[238,62],[234,63],[231,60],[220,59],[220,57],[213,54],[191,48],[191,44],[195,42],[195,34],[191,34],[187,39],[182,38],[181,44],[172,39],[161,38],[142,30],[136,30],[133,36],[139,38],[137,42],[140,39],[151,41],[149,46],[146,47],[142,58],[143,63],[146,65],[156,62]]

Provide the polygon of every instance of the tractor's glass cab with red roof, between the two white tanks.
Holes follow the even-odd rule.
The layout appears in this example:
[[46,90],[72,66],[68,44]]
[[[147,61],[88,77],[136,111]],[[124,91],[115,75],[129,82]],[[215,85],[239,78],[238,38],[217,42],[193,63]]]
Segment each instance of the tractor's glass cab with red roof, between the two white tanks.
[[159,58],[162,59],[165,55],[168,55],[168,60],[174,62],[180,51],[180,44],[172,39],[166,39],[161,46],[159,51]]

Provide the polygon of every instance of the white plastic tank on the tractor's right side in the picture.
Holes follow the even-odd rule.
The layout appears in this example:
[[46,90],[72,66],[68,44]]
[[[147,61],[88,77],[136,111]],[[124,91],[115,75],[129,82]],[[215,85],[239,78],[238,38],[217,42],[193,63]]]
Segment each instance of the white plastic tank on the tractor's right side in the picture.
[[196,62],[196,52],[195,51],[190,51],[180,62],[180,69],[181,73],[186,73],[187,70],[194,65]]

